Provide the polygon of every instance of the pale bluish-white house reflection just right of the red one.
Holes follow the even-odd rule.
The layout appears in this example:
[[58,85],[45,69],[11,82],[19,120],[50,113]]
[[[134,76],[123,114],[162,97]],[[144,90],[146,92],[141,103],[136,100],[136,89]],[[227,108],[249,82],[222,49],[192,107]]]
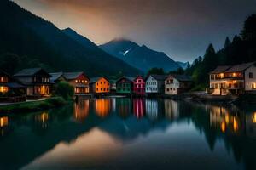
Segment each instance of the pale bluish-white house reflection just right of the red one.
[[150,120],[156,120],[160,114],[160,101],[146,99],[146,115]]

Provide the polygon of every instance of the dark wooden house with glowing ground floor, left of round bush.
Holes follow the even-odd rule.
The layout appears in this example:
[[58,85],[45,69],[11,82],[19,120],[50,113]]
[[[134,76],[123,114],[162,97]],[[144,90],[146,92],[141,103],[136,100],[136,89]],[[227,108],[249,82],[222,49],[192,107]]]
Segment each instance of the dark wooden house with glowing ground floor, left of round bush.
[[27,96],[49,96],[52,83],[48,72],[42,68],[23,69],[14,77],[26,86]]

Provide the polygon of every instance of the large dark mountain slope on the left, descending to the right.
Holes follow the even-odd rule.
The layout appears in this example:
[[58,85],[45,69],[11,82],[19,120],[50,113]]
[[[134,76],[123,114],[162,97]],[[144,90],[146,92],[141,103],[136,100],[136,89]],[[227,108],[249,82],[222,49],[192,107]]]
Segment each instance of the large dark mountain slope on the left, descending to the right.
[[[105,53],[93,42],[73,39],[71,30],[61,31],[9,0],[0,1],[0,59],[15,56],[13,69],[42,66],[48,71],[85,71],[99,74],[136,75],[137,69]],[[12,65],[12,63],[2,65]]]

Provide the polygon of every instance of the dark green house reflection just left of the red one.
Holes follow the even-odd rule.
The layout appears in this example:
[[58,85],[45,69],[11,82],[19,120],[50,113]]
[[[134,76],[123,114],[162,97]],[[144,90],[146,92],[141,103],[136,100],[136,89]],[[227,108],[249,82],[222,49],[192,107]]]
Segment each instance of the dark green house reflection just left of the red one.
[[116,106],[119,116],[127,117],[131,114],[131,99],[117,98]]

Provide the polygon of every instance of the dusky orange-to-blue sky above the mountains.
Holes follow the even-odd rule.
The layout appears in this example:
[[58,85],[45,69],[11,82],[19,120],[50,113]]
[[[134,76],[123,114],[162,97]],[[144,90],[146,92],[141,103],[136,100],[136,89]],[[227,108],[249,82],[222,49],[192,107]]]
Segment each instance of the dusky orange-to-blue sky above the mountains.
[[209,43],[239,34],[256,0],[13,0],[60,29],[72,28],[97,45],[127,38],[192,62]]

